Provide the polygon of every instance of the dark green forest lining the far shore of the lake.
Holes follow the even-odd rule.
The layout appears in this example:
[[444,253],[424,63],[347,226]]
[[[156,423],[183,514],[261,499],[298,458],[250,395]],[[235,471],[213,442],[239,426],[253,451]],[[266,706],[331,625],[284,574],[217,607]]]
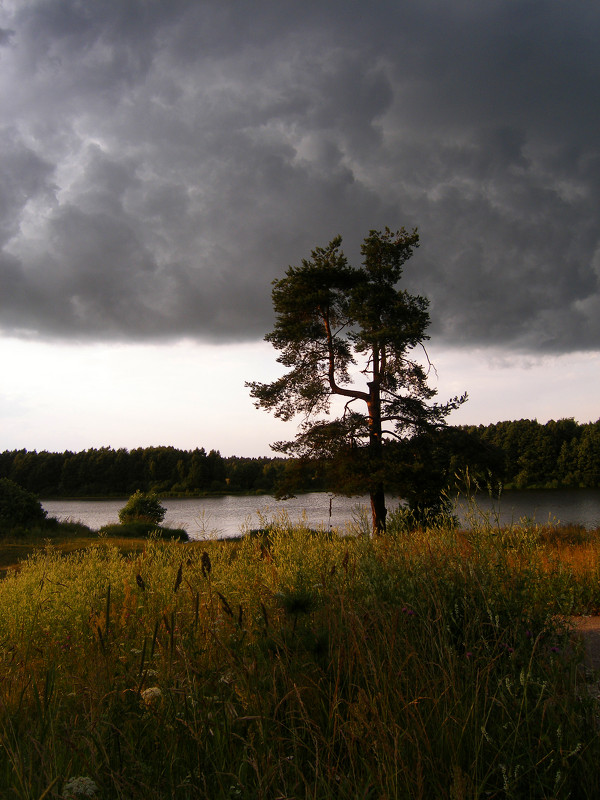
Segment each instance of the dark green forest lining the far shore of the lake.
[[[600,488],[600,420],[448,426],[427,441],[424,459],[447,484],[468,468],[480,480],[491,477],[505,488]],[[204,448],[0,453],[0,478],[41,498],[126,497],[137,489],[181,496],[271,494],[292,468],[299,492],[327,489],[317,463],[299,468],[294,459],[223,457]]]

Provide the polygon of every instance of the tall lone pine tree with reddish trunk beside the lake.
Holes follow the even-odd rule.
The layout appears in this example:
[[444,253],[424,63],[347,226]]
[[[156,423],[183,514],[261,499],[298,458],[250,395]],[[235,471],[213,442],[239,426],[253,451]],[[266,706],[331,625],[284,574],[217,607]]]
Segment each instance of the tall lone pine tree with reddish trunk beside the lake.
[[[358,483],[370,495],[377,535],[386,528],[390,477],[384,442],[444,426],[466,394],[431,402],[436,390],[413,355],[429,338],[429,302],[397,284],[418,247],[417,231],[371,230],[361,246],[360,268],[348,264],[341,243],[338,236],[316,248],[310,260],[273,282],[276,321],[265,340],[281,352],[277,361],[289,371],[272,383],[246,385],[257,408],[283,420],[304,415],[296,438],[276,442],[273,450],[360,465]],[[364,384],[357,386],[361,374]],[[346,399],[341,415],[323,419],[336,396]],[[355,470],[348,494],[358,488],[356,477]]]

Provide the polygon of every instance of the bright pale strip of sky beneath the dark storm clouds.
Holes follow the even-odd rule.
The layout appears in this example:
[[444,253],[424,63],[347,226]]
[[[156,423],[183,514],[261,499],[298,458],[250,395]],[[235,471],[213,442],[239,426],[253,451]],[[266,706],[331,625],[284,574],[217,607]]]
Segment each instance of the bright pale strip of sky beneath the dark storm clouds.
[[[431,385],[443,402],[466,391],[451,425],[600,417],[600,353],[519,356],[506,351],[428,348]],[[254,408],[245,381],[281,374],[270,344],[57,344],[0,339],[0,452],[89,448],[204,447],[223,456],[274,455],[294,437]]]

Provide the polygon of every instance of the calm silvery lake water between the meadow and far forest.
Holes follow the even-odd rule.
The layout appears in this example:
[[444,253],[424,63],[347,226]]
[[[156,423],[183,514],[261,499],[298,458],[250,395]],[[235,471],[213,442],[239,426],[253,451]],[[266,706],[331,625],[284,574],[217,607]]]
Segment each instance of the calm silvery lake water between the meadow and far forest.
[[[370,515],[368,497],[339,497],[322,492],[300,495],[290,500],[259,497],[202,497],[166,499],[164,524],[184,528],[192,539],[237,536],[250,528],[260,528],[274,516],[285,512],[292,522],[305,519],[312,528],[334,527],[343,531],[361,516]],[[61,521],[82,522],[93,530],[119,521],[119,510],[125,500],[42,500],[50,517]],[[396,508],[398,500],[389,498],[388,508]],[[457,513],[468,524],[469,512],[459,499]],[[600,490],[545,490],[505,492],[499,502],[478,497],[477,516],[487,515],[493,522],[509,524],[523,518],[539,523],[577,523],[586,528],[600,528]]]

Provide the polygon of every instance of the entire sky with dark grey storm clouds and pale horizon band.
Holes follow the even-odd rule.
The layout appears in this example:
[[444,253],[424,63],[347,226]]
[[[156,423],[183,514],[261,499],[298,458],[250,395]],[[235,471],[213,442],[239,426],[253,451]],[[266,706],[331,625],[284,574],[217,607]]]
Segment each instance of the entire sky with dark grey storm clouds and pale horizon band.
[[600,6],[0,0],[0,450],[268,454],[271,281],[418,227],[451,422],[600,417]]

